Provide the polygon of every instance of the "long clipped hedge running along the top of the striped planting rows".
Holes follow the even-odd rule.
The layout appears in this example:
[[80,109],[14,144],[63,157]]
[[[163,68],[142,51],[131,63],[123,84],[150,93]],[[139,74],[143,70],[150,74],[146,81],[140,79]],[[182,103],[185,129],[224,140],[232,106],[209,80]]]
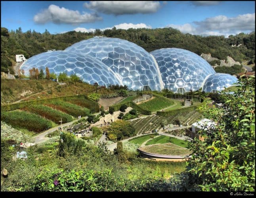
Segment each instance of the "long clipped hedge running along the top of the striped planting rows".
[[[49,104],[55,101],[70,101],[71,103],[76,103],[77,100],[80,100],[80,103],[82,104],[82,107],[86,107],[94,112],[99,112],[99,105],[95,101],[89,99],[86,95],[73,95],[73,96],[65,96],[65,97],[55,97],[55,98],[48,98],[48,99],[40,99],[40,100],[34,100],[34,101],[27,101],[27,102],[21,102],[11,105],[2,105],[1,110],[2,111],[10,111],[10,110],[16,110],[16,109],[22,109],[23,107],[28,107],[31,105],[44,105]],[[84,101],[82,103],[81,101]]]

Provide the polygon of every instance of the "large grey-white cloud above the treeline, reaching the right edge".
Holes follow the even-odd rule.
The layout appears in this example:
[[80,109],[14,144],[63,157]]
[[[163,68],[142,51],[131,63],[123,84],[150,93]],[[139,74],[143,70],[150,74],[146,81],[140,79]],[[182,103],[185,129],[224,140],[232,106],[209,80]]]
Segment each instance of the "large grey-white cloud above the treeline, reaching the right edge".
[[255,13],[227,17],[219,15],[206,18],[203,21],[194,21],[193,24],[167,25],[180,30],[183,33],[197,35],[235,35],[240,32],[251,32],[255,30]]

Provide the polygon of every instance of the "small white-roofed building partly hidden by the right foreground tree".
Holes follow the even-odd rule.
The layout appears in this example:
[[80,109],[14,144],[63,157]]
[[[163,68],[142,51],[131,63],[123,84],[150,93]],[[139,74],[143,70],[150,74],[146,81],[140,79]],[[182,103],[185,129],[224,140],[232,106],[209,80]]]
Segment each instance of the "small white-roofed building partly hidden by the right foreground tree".
[[203,140],[204,137],[200,136],[197,132],[201,130],[207,131],[209,129],[214,129],[215,126],[216,126],[216,122],[214,122],[213,120],[204,118],[203,120],[193,123],[191,130],[185,129],[185,133],[186,133],[186,136],[192,139],[196,137],[199,140]]

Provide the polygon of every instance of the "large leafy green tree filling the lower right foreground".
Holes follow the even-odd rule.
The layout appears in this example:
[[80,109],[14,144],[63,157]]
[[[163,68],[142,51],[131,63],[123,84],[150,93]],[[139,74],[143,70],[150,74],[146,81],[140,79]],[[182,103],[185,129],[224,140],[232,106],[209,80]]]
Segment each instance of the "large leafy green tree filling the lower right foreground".
[[204,141],[194,139],[190,144],[187,189],[255,190],[255,77],[239,78],[238,88],[223,95],[223,109],[199,108],[217,125],[199,131]]

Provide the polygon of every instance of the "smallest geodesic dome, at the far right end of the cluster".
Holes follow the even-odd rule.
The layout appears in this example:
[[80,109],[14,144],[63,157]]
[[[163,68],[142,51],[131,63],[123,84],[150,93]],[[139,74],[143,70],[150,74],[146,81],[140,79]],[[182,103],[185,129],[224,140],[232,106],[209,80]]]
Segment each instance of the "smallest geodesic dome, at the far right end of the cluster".
[[216,92],[222,91],[225,88],[232,86],[233,83],[237,82],[237,78],[235,76],[231,76],[230,74],[223,73],[215,73],[210,74],[206,77],[202,85],[202,91],[205,92]]

